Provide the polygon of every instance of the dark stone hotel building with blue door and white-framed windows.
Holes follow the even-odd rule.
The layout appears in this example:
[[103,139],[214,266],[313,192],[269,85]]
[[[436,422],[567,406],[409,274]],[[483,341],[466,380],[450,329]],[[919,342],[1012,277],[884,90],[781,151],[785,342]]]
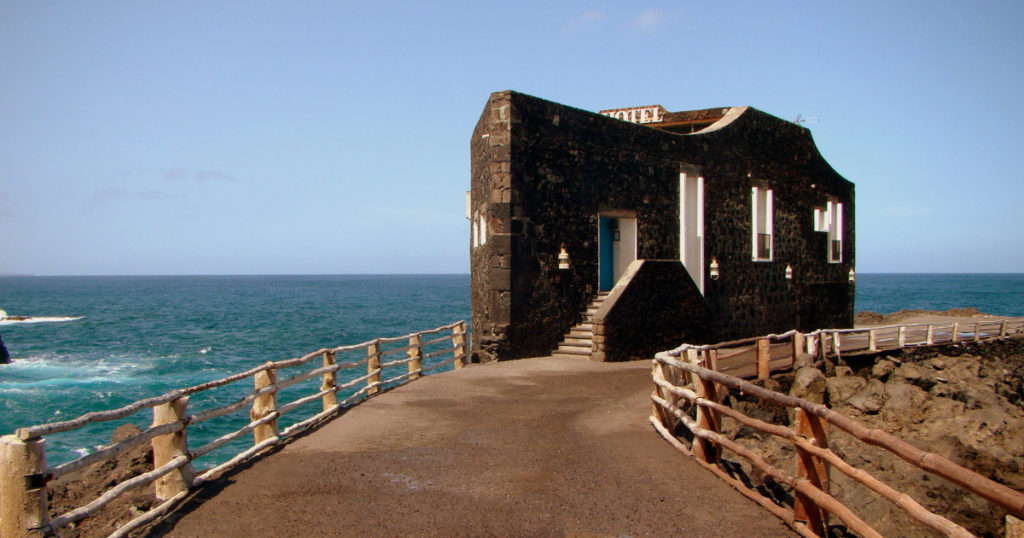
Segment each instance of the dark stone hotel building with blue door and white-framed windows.
[[800,125],[503,91],[470,147],[477,361],[853,323],[854,187]]

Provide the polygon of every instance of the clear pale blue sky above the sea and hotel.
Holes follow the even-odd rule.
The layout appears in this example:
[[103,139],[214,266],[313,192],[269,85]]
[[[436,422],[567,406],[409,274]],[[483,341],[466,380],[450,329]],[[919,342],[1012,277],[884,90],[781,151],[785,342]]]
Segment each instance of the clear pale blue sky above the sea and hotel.
[[468,273],[492,91],[750,105],[857,271],[1024,272],[1024,4],[0,0],[0,274]]

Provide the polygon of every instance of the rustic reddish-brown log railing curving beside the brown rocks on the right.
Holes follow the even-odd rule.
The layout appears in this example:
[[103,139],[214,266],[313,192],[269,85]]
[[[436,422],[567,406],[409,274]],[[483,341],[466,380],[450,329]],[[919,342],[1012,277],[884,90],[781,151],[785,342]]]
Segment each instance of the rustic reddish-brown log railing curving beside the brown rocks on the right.
[[[985,325],[991,324],[992,328]],[[824,536],[829,514],[860,536],[880,536],[837,498],[829,495],[829,469],[835,468],[874,494],[900,506],[911,518],[946,536],[973,536],[968,530],[933,513],[909,496],[854,467],[829,450],[828,432],[839,428],[857,441],[889,451],[908,463],[948,480],[1009,513],[1024,518],[1024,493],[995,483],[948,459],[922,451],[896,437],[870,429],[820,403],[775,392],[744,381],[722,370],[723,364],[746,377],[767,377],[770,371],[788,368],[795,361],[838,357],[842,353],[878,353],[911,345],[937,345],[957,341],[982,341],[1024,334],[1024,322],[979,322],[963,331],[957,324],[911,325],[870,329],[828,330],[802,334],[791,331],[750,340],[713,345],[682,345],[657,354],[653,362],[654,392],[651,395],[654,428],[673,446],[692,456],[702,466],[777,515],[804,536]],[[919,334],[920,333],[920,334]],[[737,349],[740,349],[737,351]],[[745,355],[744,355],[745,354]],[[774,424],[749,417],[724,405],[729,390],[754,397],[764,404],[793,409],[792,423]],[[775,436],[792,444],[794,472],[773,464],[758,451],[723,434],[722,420]],[[687,441],[689,440],[689,441]],[[738,477],[735,466],[722,456],[727,450],[760,469],[793,492],[792,504],[762,494]]]

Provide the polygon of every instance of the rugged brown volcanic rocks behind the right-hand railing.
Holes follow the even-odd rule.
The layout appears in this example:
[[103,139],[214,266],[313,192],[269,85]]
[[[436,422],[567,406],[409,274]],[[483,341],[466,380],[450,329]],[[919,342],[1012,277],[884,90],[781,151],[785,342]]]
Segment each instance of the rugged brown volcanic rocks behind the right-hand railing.
[[[952,313],[861,315],[858,322],[863,325],[891,325],[943,315],[977,318],[979,313],[971,308]],[[837,364],[805,365],[759,384],[825,403],[869,428],[892,433],[922,450],[943,455],[995,482],[1024,491],[1024,340],[962,342],[845,357]],[[792,419],[785,408],[773,409],[743,397],[730,398],[734,398],[733,406],[750,416],[777,424],[787,424]],[[723,428],[739,444],[762,451],[773,464],[792,470],[795,454],[787,442],[739,427],[728,419]],[[979,536],[1004,536],[1006,511],[977,495],[885,450],[857,442],[839,429],[831,429],[829,443],[833,451],[848,463],[908,494],[926,508]],[[740,466],[765,491],[774,492],[779,498],[790,495],[770,480],[758,477],[749,465]],[[901,508],[835,470],[831,494],[885,536],[936,536]],[[839,522],[834,518],[833,523]]]

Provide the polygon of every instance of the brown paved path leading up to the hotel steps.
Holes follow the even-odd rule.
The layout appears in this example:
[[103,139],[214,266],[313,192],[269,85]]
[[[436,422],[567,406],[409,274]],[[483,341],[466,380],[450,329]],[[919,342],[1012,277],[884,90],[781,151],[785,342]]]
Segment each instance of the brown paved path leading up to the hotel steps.
[[647,422],[650,363],[541,358],[374,398],[157,536],[794,536]]

